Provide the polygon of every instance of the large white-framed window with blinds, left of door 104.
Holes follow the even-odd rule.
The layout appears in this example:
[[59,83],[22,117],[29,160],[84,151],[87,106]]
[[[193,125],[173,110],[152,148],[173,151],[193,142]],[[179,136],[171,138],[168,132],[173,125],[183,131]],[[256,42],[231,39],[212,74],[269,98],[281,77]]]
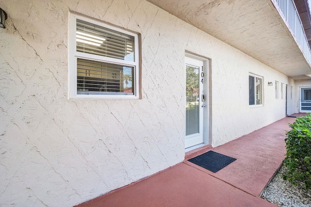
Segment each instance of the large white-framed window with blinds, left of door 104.
[[138,96],[138,34],[70,15],[69,97]]

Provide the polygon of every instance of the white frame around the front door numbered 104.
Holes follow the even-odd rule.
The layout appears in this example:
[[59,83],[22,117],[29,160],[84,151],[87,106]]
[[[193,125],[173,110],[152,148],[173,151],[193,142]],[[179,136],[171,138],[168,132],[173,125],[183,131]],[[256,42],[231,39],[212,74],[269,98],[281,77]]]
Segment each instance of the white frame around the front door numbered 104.
[[[191,52],[186,52],[185,57],[197,59],[200,61],[203,61],[203,68],[205,71],[203,81],[203,93],[205,94],[205,105],[206,107],[203,107],[203,143],[197,144],[194,146],[190,146],[186,148],[186,151],[190,151],[192,149],[204,146],[206,144],[211,144],[211,139],[210,139],[210,130],[209,130],[209,123],[210,123],[210,59],[206,57],[202,57],[196,54],[193,54]],[[185,61],[186,63],[186,61]],[[186,69],[185,70],[185,84],[186,84]],[[186,90],[185,90],[186,91]],[[185,106],[186,106],[186,98],[184,99],[185,101]],[[186,135],[186,115],[185,115],[185,135]],[[185,136],[186,138],[186,136]],[[184,139],[185,139],[184,138]]]

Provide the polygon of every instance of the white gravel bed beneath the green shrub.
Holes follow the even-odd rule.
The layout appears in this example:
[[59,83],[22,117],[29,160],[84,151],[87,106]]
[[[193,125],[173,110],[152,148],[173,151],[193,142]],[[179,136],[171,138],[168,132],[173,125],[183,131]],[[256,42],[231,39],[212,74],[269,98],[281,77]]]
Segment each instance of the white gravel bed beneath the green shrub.
[[311,190],[307,191],[304,183],[293,185],[283,180],[282,174],[288,170],[282,166],[270,184],[262,192],[261,198],[280,207],[311,207]]

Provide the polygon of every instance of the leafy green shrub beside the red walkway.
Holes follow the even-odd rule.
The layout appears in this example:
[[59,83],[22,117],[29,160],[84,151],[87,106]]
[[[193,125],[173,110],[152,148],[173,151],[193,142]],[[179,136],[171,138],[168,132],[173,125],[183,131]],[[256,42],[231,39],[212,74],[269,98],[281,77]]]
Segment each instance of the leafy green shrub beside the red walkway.
[[306,189],[311,187],[311,113],[297,117],[292,129],[286,132],[286,158],[284,165],[289,172],[283,175],[284,180],[305,183]]

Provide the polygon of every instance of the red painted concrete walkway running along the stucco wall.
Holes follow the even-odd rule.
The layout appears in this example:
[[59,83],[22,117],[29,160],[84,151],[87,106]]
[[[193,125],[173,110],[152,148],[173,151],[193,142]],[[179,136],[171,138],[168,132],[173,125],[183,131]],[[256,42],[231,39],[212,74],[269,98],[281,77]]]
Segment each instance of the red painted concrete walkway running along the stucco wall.
[[[221,146],[192,150],[182,163],[78,207],[276,207],[259,195],[285,158],[285,132],[294,121],[286,117]],[[237,160],[217,173],[187,161],[209,150]]]

